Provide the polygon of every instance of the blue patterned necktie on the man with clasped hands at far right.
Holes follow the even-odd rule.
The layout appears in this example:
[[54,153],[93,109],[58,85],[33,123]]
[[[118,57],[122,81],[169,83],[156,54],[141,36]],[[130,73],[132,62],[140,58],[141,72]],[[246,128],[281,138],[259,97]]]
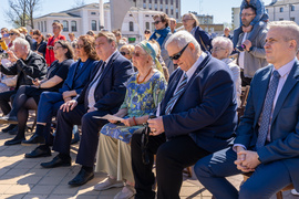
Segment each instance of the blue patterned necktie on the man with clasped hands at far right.
[[274,107],[274,98],[277,91],[279,78],[280,78],[280,74],[277,71],[274,71],[272,78],[268,86],[265,103],[262,106],[260,127],[258,129],[258,138],[257,138],[257,144],[256,144],[257,149],[261,148],[265,145],[265,142],[268,135],[269,125],[271,122],[270,118],[271,118],[271,113],[272,113],[272,107]]

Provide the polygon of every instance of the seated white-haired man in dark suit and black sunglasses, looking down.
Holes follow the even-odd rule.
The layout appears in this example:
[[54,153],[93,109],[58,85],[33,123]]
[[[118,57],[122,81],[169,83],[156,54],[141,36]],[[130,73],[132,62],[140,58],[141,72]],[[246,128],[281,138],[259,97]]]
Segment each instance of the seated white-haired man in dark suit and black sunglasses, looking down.
[[237,124],[234,81],[225,63],[203,52],[187,31],[173,34],[166,49],[179,67],[169,78],[158,117],[148,119],[152,132],[148,165],[142,160],[142,135],[133,135],[135,198],[155,198],[152,190],[154,154],[157,197],[179,198],[183,169],[227,147]]

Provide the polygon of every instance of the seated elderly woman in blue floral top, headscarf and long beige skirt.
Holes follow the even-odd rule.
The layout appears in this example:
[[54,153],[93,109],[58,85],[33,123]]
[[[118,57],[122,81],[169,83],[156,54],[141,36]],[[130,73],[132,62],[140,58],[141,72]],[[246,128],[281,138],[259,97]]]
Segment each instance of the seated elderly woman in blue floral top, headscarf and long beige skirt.
[[124,103],[114,115],[122,118],[121,124],[110,121],[101,129],[95,170],[104,171],[109,177],[94,189],[123,187],[125,182],[114,199],[131,198],[135,195],[131,166],[131,137],[135,130],[143,128],[148,115],[155,112],[164,98],[167,83],[156,59],[157,53],[156,41],[142,41],[135,46],[133,64],[138,72],[128,80]]

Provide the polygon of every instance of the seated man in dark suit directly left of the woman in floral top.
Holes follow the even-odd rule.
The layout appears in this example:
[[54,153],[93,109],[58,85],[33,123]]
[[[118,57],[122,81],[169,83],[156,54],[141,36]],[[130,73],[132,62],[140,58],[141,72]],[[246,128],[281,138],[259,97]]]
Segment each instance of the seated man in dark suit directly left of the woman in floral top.
[[42,167],[70,166],[70,143],[73,125],[82,125],[82,138],[76,164],[82,165],[80,172],[69,185],[80,186],[94,176],[94,157],[99,142],[99,130],[107,121],[95,118],[115,114],[124,101],[125,83],[133,72],[132,64],[117,51],[113,33],[102,31],[95,40],[95,50],[101,64],[93,71],[93,76],[76,100],[61,105],[58,112],[58,128],[53,150],[59,155]]

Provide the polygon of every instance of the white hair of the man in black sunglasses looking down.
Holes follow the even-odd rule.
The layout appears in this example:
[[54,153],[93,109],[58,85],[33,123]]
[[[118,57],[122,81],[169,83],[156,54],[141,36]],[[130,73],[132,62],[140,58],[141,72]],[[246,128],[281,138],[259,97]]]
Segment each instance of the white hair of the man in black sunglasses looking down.
[[167,49],[167,45],[169,43],[175,42],[179,49],[183,49],[187,43],[193,43],[196,51],[200,52],[200,45],[195,40],[195,38],[186,30],[178,31],[171,35],[171,38],[165,43],[165,49]]

